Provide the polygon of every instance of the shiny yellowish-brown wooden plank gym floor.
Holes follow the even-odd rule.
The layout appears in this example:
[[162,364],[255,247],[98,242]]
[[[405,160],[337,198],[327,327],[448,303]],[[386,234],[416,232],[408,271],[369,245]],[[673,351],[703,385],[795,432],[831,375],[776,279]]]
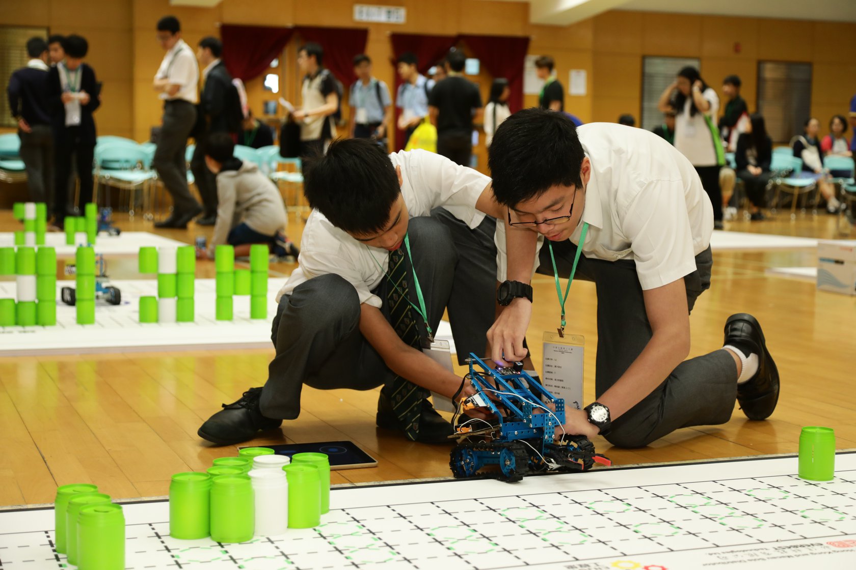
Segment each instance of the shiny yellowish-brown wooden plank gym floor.
[[[151,222],[116,216],[123,229],[154,231]],[[805,215],[791,222],[727,222],[740,232],[836,238],[835,218]],[[289,237],[302,223],[290,215]],[[18,226],[0,212],[0,231]],[[193,243],[211,228],[159,232]],[[597,450],[617,464],[690,461],[797,450],[800,426],[835,428],[840,449],[856,448],[856,297],[817,292],[813,283],[772,277],[767,267],[816,264],[807,250],[714,254],[710,291],[691,317],[690,356],[722,346],[729,314],[758,317],[782,375],[782,397],[768,421],[746,420],[735,408],[722,426],[680,430],[638,450],[612,448],[596,438]],[[293,264],[275,264],[288,274]],[[212,262],[198,274],[213,277]],[[110,276],[134,279],[135,261],[111,261]],[[552,279],[535,279],[529,338],[556,326]],[[594,286],[574,284],[568,299],[570,329],[586,336],[586,401],[593,398],[597,331]],[[539,362],[540,343],[532,343]],[[203,470],[211,460],[235,455],[235,447],[211,447],[196,435],[199,425],[251,386],[265,383],[270,350],[127,353],[113,355],[0,358],[0,505],[45,503],[56,485],[91,482],[111,496],[152,497],[167,493],[173,473]],[[463,368],[461,368],[461,371]],[[350,439],[378,460],[377,468],[333,473],[333,483],[449,476],[449,447],[414,444],[375,427],[376,391],[317,391],[305,387],[300,418],[284,422],[282,434],[255,444]]]

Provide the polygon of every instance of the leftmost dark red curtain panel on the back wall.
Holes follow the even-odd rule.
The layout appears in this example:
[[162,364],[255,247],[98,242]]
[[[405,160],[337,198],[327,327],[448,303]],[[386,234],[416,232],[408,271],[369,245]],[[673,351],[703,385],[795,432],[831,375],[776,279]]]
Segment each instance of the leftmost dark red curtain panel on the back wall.
[[282,56],[294,33],[290,27],[220,26],[223,40],[223,64],[232,77],[244,82],[259,77],[270,62]]

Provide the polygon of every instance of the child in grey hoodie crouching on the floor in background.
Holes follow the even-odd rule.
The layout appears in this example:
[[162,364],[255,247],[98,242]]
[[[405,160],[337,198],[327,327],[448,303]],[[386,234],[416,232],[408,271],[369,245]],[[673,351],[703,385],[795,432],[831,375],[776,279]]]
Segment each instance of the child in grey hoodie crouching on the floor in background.
[[250,245],[266,244],[275,256],[297,256],[300,251],[285,237],[288,217],[276,185],[253,162],[235,158],[228,132],[207,139],[205,164],[217,175],[217,223],[208,256],[217,245],[235,246],[235,256],[250,255]]

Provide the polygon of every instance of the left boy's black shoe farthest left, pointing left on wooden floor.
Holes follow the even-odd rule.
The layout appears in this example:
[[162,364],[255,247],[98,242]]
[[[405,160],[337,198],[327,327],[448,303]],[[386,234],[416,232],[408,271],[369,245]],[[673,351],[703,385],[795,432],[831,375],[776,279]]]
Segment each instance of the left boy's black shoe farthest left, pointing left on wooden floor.
[[235,445],[253,439],[260,430],[281,426],[282,420],[265,418],[259,411],[261,395],[261,388],[250,388],[237,402],[223,404],[223,409],[199,428],[199,437],[212,444]]

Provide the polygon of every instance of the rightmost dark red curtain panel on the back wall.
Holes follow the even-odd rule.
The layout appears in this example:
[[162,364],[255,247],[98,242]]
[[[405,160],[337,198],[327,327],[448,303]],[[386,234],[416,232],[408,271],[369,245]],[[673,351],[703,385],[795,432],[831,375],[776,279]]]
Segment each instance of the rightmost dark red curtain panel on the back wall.
[[508,79],[508,109],[512,113],[523,108],[523,65],[529,38],[511,36],[459,36],[481,60],[488,73],[495,78]]

